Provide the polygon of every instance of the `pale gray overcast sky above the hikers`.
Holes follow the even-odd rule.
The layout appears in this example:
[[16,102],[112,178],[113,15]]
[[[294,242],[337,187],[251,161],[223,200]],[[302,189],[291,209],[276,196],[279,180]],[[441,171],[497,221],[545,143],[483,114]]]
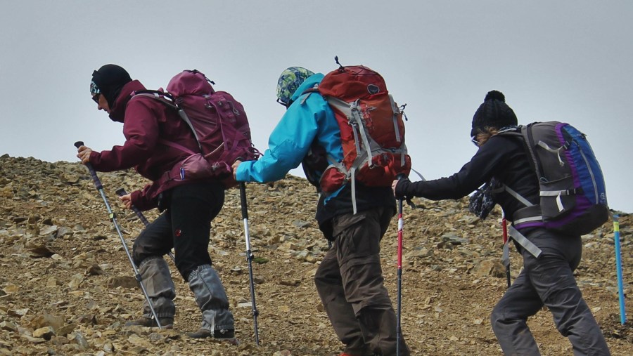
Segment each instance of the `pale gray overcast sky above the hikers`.
[[632,18],[629,0],[6,1],[0,154],[76,161],[76,140],[121,144],[121,124],[89,96],[106,63],[148,88],[204,72],[243,103],[263,151],[283,114],[281,71],[328,72],[338,55],[381,72],[407,103],[407,146],[426,178],[475,153],[473,113],[497,89],[520,123],[555,119],[587,133],[610,206],[633,212]]

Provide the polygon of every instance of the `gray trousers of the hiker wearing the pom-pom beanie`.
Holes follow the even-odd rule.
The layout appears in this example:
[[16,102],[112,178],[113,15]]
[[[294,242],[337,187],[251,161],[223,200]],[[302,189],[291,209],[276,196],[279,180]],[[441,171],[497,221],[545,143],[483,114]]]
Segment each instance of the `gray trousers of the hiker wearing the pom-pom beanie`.
[[528,317],[546,305],[556,329],[572,343],[574,355],[610,355],[596,319],[584,302],[573,271],[580,263],[580,237],[537,229],[528,239],[543,252],[523,250],[523,270],[492,310],[492,329],[504,355],[540,355]]

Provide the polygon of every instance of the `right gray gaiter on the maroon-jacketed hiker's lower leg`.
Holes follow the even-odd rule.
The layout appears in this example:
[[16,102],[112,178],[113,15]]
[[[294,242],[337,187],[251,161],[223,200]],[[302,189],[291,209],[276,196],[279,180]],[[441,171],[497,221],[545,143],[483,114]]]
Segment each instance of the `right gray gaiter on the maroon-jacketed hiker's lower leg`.
[[203,321],[200,329],[208,331],[234,329],[233,314],[229,310],[229,298],[217,272],[211,265],[200,265],[188,276],[189,289],[196,296]]

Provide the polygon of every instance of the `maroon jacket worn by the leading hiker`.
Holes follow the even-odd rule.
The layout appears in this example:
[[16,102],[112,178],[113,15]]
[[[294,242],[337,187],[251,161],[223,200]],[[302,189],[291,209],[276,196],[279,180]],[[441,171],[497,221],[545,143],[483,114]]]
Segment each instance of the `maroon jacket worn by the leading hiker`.
[[[163,178],[188,154],[160,143],[160,139],[179,143],[198,152],[198,143],[177,112],[158,100],[143,95],[132,98],[134,91],[144,90],[140,81],[125,84],[110,109],[110,119],[123,123],[125,143],[112,150],[90,154],[90,163],[96,171],[110,172],[134,167],[141,176],[152,180],[143,190],[132,192],[132,204],[141,210],[158,206],[158,194],[191,180]],[[163,178],[163,179],[162,179]]]

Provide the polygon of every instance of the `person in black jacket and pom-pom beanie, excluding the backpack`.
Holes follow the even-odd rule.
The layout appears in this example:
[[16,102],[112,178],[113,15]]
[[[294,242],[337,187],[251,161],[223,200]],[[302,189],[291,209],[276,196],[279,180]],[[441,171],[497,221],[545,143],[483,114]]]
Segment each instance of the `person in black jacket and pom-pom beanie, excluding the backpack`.
[[[471,138],[478,151],[471,161],[448,178],[415,183],[407,178],[394,180],[395,196],[459,199],[486,183],[493,188],[506,185],[531,204],[539,204],[539,182],[522,138],[499,134],[517,127],[516,115],[505,103],[503,93],[490,91],[473,117]],[[494,204],[486,202],[498,203],[509,221],[524,207],[506,190],[483,191],[490,193],[482,197],[484,204],[480,206],[490,211]],[[487,214],[487,211],[483,213]],[[478,211],[478,215],[480,213],[482,211]],[[542,252],[537,258],[515,241],[523,255],[523,270],[495,305],[490,317],[504,355],[540,355],[527,320],[543,305],[554,316],[556,329],[569,338],[574,355],[610,355],[573,275],[582,254],[580,236],[542,227],[517,230]]]

